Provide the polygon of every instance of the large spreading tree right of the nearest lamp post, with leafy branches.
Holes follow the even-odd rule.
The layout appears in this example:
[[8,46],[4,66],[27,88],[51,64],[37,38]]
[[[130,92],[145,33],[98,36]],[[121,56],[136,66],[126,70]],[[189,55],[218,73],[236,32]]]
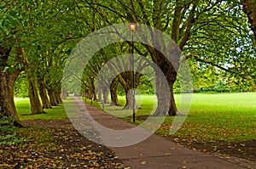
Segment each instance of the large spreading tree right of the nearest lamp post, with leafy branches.
[[[82,6],[83,4],[80,5]],[[238,2],[85,1],[84,7],[91,8],[92,13],[97,14],[106,24],[137,22],[164,31],[177,43],[177,46],[185,54],[185,58],[194,58],[197,61],[207,65],[214,65],[224,70],[227,70],[224,65],[227,62],[231,62],[225,59],[227,54],[230,55],[230,51],[236,50],[236,47],[241,47],[242,41],[249,39],[245,35],[247,24],[242,21],[244,20],[244,15],[240,12],[241,7]],[[233,33],[234,38],[230,39],[230,33]],[[229,37],[227,38],[227,36]],[[236,45],[234,45],[233,42],[236,42],[237,38],[243,38],[243,40],[240,41],[240,44],[235,43]],[[222,39],[225,39],[225,41]],[[226,42],[227,40],[229,42]],[[161,44],[160,39],[156,39],[156,41]],[[175,58],[175,64],[173,65],[170,62],[166,62],[163,54],[160,54],[155,48],[149,48],[146,45],[144,48],[148,50],[151,59],[160,67],[167,78],[171,89],[169,115],[176,115],[177,108],[173,98],[172,87],[177,78],[180,58]],[[222,51],[223,55],[218,51]],[[159,91],[159,85],[156,84],[156,88]],[[162,93],[158,92],[157,95],[158,97],[163,96]],[[158,100],[164,101],[165,98],[159,98]],[[161,110],[161,107],[158,106],[156,110],[158,114],[166,114],[166,110]]]

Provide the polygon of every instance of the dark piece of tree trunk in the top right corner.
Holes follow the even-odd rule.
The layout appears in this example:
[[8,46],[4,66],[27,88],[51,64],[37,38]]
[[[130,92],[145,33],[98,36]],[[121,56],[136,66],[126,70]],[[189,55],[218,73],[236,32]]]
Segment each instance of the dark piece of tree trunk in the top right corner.
[[256,2],[255,0],[241,0],[241,4],[243,5],[244,13],[247,14],[254,39],[256,40]]

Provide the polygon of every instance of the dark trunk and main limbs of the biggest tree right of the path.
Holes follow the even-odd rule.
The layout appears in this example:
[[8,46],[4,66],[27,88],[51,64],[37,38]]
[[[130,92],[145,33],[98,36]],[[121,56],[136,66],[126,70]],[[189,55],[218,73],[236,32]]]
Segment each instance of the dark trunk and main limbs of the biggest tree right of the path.
[[[196,8],[196,5],[193,4],[193,7],[189,11],[189,17],[186,20],[186,24],[183,24],[184,26],[183,36],[181,36],[181,32],[180,32],[180,26],[181,26],[181,23],[183,20],[183,14],[184,14],[183,9],[185,9],[185,7],[183,6],[183,1],[177,1],[177,4],[174,8],[171,38],[173,42],[177,44],[180,51],[183,50],[183,47],[189,41],[190,30],[192,25],[195,23],[195,8]],[[162,31],[164,30],[164,28],[159,22],[161,18],[160,18],[160,14],[158,14],[157,12],[157,11],[160,11],[160,5],[154,5],[154,11],[155,11],[154,18],[153,18],[153,22],[155,24],[154,27]],[[154,32],[153,37],[154,37],[153,42],[155,45],[154,47],[158,47],[158,48],[166,47],[164,39],[161,38],[161,36],[158,35],[158,33]],[[151,58],[153,59],[154,63],[160,67],[160,70],[162,70],[162,72],[166,76],[166,80],[168,82],[168,86],[170,89],[170,96],[163,97],[161,95],[162,88],[160,87],[160,82],[156,80],[156,93],[158,97],[158,107],[155,110],[154,115],[166,115],[165,106],[167,104],[166,103],[167,100],[170,102],[168,115],[180,115],[180,113],[177,111],[175,99],[173,96],[173,84],[177,79],[177,70],[179,67],[179,59],[181,57],[181,54],[179,54],[180,51],[177,50],[176,44],[168,44],[169,51],[166,51],[168,52],[167,56],[165,56],[164,54],[161,54],[160,51],[156,50],[155,48],[146,47],[148,48],[148,52],[151,54]],[[165,49],[163,49],[163,51],[165,51]]]

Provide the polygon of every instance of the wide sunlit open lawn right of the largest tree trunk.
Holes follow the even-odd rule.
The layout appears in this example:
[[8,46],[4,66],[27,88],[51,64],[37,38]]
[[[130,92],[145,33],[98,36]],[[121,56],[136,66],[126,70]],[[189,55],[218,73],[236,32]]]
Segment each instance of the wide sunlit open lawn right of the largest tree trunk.
[[[194,94],[190,113],[175,135],[207,142],[256,140],[255,100],[256,93]],[[165,125],[170,122],[167,117]]]

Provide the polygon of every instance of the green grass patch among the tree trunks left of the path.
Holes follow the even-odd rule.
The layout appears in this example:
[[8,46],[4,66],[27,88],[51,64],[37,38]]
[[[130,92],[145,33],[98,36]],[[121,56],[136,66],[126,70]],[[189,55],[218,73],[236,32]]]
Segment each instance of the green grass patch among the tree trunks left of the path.
[[29,99],[15,99],[16,109],[20,117],[20,121],[25,120],[65,120],[67,114],[62,104],[59,106],[53,106],[52,109],[45,109],[46,114],[29,115],[30,114],[30,103]]

